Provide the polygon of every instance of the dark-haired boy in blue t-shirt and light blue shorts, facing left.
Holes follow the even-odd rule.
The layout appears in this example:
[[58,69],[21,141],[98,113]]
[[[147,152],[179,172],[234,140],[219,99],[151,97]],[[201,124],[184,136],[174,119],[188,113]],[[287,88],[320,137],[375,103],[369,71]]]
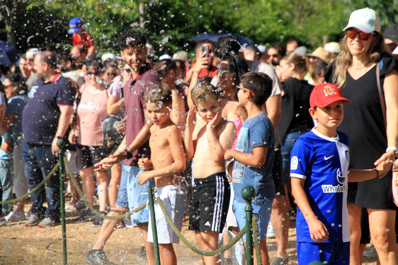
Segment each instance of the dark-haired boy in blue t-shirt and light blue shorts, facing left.
[[[248,112],[236,141],[236,149],[228,149],[224,159],[234,159],[232,167],[232,185],[235,191],[232,209],[241,230],[245,224],[246,203],[240,191],[246,185],[256,189],[252,201],[253,213],[259,215],[259,240],[262,259],[269,261],[266,239],[267,226],[271,215],[272,202],[275,198],[275,186],[271,176],[274,161],[275,135],[271,121],[261,107],[271,95],[272,80],[262,73],[250,72],[240,77],[238,101]],[[246,248],[246,237],[243,237]],[[254,255],[254,264],[256,264]]]

